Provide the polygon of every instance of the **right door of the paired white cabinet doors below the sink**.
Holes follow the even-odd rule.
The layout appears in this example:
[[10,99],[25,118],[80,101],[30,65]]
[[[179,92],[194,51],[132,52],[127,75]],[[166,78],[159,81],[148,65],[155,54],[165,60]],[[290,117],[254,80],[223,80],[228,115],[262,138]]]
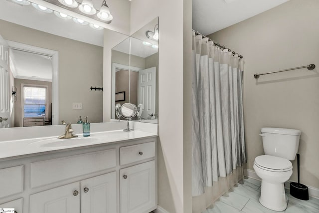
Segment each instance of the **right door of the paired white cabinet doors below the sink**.
[[80,182],[82,213],[116,213],[116,172]]

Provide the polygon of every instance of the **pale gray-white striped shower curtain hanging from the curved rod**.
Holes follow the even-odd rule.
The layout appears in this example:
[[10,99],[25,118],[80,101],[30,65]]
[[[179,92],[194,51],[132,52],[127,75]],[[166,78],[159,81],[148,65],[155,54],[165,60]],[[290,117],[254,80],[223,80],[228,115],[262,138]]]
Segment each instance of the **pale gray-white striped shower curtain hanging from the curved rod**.
[[220,197],[243,179],[246,162],[243,59],[195,32],[192,37],[192,195],[215,187],[219,192],[211,194]]

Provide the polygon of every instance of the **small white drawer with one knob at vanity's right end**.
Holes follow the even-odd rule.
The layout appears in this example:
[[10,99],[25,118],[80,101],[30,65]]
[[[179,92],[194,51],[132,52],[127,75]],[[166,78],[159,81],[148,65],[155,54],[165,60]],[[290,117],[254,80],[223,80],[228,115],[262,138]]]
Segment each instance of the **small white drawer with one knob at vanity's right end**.
[[155,157],[155,141],[120,148],[120,164],[130,164]]

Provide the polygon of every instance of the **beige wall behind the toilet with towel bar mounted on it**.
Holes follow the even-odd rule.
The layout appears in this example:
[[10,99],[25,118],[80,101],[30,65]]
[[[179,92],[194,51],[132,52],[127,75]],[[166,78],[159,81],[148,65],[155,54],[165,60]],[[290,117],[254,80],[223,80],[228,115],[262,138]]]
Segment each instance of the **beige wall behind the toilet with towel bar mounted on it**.
[[[247,168],[263,155],[262,127],[302,131],[301,182],[319,188],[319,1],[290,0],[209,35],[244,56],[244,118]],[[264,73],[314,63],[316,69]],[[297,159],[292,181],[297,181]]]

